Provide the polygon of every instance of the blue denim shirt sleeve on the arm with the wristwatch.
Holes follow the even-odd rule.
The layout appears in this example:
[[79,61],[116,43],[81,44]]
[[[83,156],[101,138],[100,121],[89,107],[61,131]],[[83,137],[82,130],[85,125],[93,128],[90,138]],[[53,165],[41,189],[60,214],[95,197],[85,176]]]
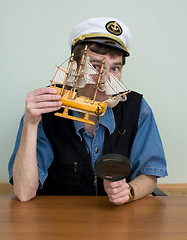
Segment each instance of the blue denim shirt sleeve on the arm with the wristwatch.
[[138,130],[131,149],[130,160],[133,174],[167,176],[167,164],[162,141],[153,116],[153,112],[145,99],[142,99]]

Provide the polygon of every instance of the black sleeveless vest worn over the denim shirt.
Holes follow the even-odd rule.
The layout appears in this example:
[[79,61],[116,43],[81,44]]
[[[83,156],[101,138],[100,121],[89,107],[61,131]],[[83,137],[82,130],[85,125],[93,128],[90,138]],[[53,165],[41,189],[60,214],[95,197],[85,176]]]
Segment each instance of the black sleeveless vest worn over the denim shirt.
[[[142,95],[131,92],[127,101],[113,108],[116,128],[105,131],[103,154],[120,153],[129,157],[137,131]],[[47,113],[42,116],[46,137],[54,150],[54,160],[40,195],[96,195],[90,157],[84,141],[76,134],[72,120]],[[97,181],[98,195],[106,195],[102,179]]]

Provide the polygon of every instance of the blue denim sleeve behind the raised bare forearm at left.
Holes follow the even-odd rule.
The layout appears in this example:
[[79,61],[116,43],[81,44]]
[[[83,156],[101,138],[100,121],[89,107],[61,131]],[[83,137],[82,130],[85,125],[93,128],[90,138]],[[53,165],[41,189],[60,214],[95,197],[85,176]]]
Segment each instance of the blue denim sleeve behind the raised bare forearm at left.
[[[13,169],[14,159],[18,151],[20,140],[21,140],[23,120],[24,120],[24,116],[21,118],[14,150],[8,164],[9,182],[12,185],[13,185],[12,169]],[[48,168],[50,167],[54,159],[53,149],[50,141],[47,139],[44,133],[42,121],[38,125],[36,154],[37,154],[38,174],[39,174],[39,182],[40,182],[39,189],[41,189],[48,176]]]

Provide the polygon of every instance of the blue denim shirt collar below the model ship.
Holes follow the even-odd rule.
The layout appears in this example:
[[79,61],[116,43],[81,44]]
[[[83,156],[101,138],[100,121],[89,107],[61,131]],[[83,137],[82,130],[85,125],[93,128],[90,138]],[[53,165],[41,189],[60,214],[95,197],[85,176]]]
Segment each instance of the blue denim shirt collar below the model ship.
[[[73,111],[73,116],[80,118],[79,113],[77,111]],[[82,140],[80,130],[84,129],[84,125],[82,122],[78,122],[78,121],[73,121],[73,122],[74,122],[76,133]],[[103,116],[99,117],[98,124],[101,124],[104,127],[106,127],[108,129],[110,135],[114,132],[116,124],[115,124],[114,113],[111,108],[107,107],[105,114]]]

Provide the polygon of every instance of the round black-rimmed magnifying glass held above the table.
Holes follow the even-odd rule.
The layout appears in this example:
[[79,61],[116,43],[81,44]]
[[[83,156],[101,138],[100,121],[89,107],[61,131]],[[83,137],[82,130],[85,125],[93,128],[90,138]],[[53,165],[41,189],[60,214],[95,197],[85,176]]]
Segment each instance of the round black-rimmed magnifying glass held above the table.
[[96,160],[95,173],[102,179],[119,181],[131,175],[131,162],[121,154],[105,154]]

